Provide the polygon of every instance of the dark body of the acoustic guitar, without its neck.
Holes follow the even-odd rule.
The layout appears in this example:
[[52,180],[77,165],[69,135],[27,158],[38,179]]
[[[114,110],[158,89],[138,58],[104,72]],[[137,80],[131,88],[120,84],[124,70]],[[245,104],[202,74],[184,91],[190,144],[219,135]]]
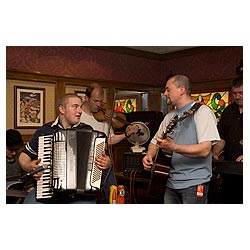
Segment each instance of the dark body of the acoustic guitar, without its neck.
[[171,157],[158,156],[151,169],[148,195],[163,199],[171,166]]

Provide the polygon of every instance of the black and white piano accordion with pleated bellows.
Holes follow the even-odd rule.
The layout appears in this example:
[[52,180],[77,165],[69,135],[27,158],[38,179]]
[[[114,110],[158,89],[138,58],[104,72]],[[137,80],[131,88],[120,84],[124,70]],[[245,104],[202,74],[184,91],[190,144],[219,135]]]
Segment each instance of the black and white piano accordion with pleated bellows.
[[40,136],[38,159],[46,166],[37,181],[36,199],[58,194],[95,193],[100,189],[102,170],[94,163],[105,150],[106,135],[90,126],[61,129]]

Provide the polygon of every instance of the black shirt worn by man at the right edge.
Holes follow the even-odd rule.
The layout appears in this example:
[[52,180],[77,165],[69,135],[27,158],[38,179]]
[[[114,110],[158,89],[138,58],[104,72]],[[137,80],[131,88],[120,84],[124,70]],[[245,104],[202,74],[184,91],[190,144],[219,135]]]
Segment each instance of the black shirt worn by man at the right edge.
[[228,161],[235,161],[243,155],[243,113],[240,114],[239,106],[233,103],[225,108],[218,123],[218,130],[221,139],[226,141],[224,158]]

